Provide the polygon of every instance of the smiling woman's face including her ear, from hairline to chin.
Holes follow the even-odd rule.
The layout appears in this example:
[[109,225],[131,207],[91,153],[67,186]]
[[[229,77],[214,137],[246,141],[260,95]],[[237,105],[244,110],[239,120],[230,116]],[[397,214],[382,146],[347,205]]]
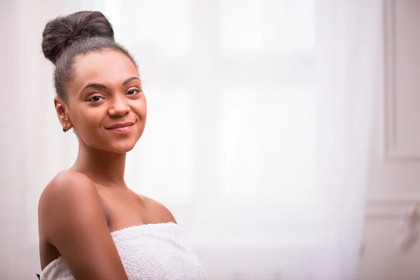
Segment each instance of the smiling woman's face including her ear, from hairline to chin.
[[55,102],[62,125],[74,127],[87,147],[132,150],[146,124],[146,98],[136,66],[123,53],[105,50],[78,57],[73,69],[66,104]]

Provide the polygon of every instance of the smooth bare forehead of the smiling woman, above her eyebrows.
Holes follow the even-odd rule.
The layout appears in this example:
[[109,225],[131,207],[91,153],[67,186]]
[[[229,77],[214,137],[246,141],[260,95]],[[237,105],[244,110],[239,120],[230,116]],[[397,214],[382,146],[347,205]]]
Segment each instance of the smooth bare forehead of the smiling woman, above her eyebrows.
[[136,66],[127,55],[116,50],[89,52],[76,59],[73,83],[121,83],[132,76],[139,76]]

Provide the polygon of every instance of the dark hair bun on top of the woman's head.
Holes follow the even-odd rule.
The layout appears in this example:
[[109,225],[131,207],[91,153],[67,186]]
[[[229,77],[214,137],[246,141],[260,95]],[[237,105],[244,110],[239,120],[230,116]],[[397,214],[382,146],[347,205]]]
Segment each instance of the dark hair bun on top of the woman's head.
[[50,20],[43,31],[42,51],[53,64],[72,43],[94,36],[114,40],[111,23],[97,11],[80,11]]

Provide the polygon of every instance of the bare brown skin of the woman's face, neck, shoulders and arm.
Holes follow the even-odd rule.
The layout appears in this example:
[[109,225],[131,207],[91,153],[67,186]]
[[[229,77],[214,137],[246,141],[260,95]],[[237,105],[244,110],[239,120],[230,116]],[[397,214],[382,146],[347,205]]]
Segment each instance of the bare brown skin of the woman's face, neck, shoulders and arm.
[[[66,102],[56,97],[54,103],[62,126],[76,130],[78,158],[39,200],[41,269],[62,255],[76,280],[127,279],[111,232],[176,223],[162,204],[124,181],[125,155],[146,124],[146,99],[136,66],[120,52],[90,52],[77,57],[73,69]],[[134,123],[127,134],[107,129],[126,122]]]

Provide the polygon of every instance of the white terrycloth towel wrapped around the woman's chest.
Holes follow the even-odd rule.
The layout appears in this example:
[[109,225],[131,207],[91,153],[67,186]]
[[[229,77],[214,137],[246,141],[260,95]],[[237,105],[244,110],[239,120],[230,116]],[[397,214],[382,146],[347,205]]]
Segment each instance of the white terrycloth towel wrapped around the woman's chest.
[[[130,280],[208,279],[176,223],[135,225],[111,235]],[[73,276],[59,257],[43,269],[41,280],[73,280]]]

